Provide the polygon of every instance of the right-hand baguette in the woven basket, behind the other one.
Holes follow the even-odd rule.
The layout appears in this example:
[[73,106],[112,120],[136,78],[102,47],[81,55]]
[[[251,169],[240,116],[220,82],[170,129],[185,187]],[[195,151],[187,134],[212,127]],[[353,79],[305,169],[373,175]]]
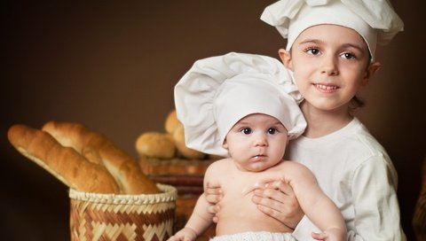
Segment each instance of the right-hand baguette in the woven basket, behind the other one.
[[79,123],[49,121],[43,131],[64,146],[75,148],[92,162],[103,165],[125,194],[159,193],[160,190],[132,159],[116,147],[106,136],[91,131]]

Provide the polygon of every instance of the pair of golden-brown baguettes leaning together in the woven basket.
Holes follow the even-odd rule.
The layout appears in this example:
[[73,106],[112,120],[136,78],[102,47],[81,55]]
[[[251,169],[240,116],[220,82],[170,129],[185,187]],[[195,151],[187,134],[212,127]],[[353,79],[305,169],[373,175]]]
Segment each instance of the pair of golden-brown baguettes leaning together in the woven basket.
[[49,121],[43,128],[16,124],[11,144],[69,188],[95,193],[159,193],[132,159],[106,136],[79,123]]

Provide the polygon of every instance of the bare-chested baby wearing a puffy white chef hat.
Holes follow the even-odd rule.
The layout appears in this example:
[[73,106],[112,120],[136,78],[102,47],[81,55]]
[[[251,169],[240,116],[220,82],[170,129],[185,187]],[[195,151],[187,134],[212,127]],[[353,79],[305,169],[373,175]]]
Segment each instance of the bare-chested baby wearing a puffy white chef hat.
[[[289,227],[260,212],[253,190],[273,180],[289,183],[320,240],[346,240],[343,216],[319,189],[311,171],[283,160],[290,139],[304,132],[301,97],[275,58],[229,53],[201,59],[175,87],[177,118],[188,147],[219,159],[204,176],[223,191],[212,240],[294,240]],[[185,228],[169,240],[195,240],[212,223],[201,194]]]

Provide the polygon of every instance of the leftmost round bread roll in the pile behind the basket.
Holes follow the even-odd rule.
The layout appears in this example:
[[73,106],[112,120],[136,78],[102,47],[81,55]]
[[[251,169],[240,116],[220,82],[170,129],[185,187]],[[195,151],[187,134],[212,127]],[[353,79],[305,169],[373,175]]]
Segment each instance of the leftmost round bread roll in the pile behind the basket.
[[171,159],[176,152],[173,137],[159,132],[146,132],[138,136],[135,147],[141,158]]

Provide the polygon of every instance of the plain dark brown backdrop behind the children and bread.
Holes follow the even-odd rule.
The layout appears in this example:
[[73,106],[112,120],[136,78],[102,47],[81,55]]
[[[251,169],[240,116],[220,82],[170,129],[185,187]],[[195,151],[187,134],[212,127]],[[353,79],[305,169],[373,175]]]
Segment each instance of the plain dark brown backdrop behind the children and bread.
[[[67,188],[12,148],[12,124],[82,122],[136,157],[139,134],[163,131],[173,86],[194,60],[229,51],[278,57],[285,46],[259,19],[272,0],[87,2],[2,4],[2,240],[69,239]],[[394,2],[406,29],[378,49],[383,68],[358,116],[398,169],[402,224],[412,239],[425,155],[425,42],[422,8]]]

